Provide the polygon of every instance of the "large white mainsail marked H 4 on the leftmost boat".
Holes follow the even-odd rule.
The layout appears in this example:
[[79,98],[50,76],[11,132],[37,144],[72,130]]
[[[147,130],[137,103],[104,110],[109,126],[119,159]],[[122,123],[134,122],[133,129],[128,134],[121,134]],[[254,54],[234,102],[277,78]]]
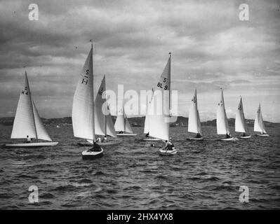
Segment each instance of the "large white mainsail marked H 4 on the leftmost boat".
[[11,139],[25,139],[27,135],[30,138],[36,138],[32,99],[29,94],[29,84],[25,71],[25,84],[20,91],[20,99],[15,113],[15,120],[13,121]]

